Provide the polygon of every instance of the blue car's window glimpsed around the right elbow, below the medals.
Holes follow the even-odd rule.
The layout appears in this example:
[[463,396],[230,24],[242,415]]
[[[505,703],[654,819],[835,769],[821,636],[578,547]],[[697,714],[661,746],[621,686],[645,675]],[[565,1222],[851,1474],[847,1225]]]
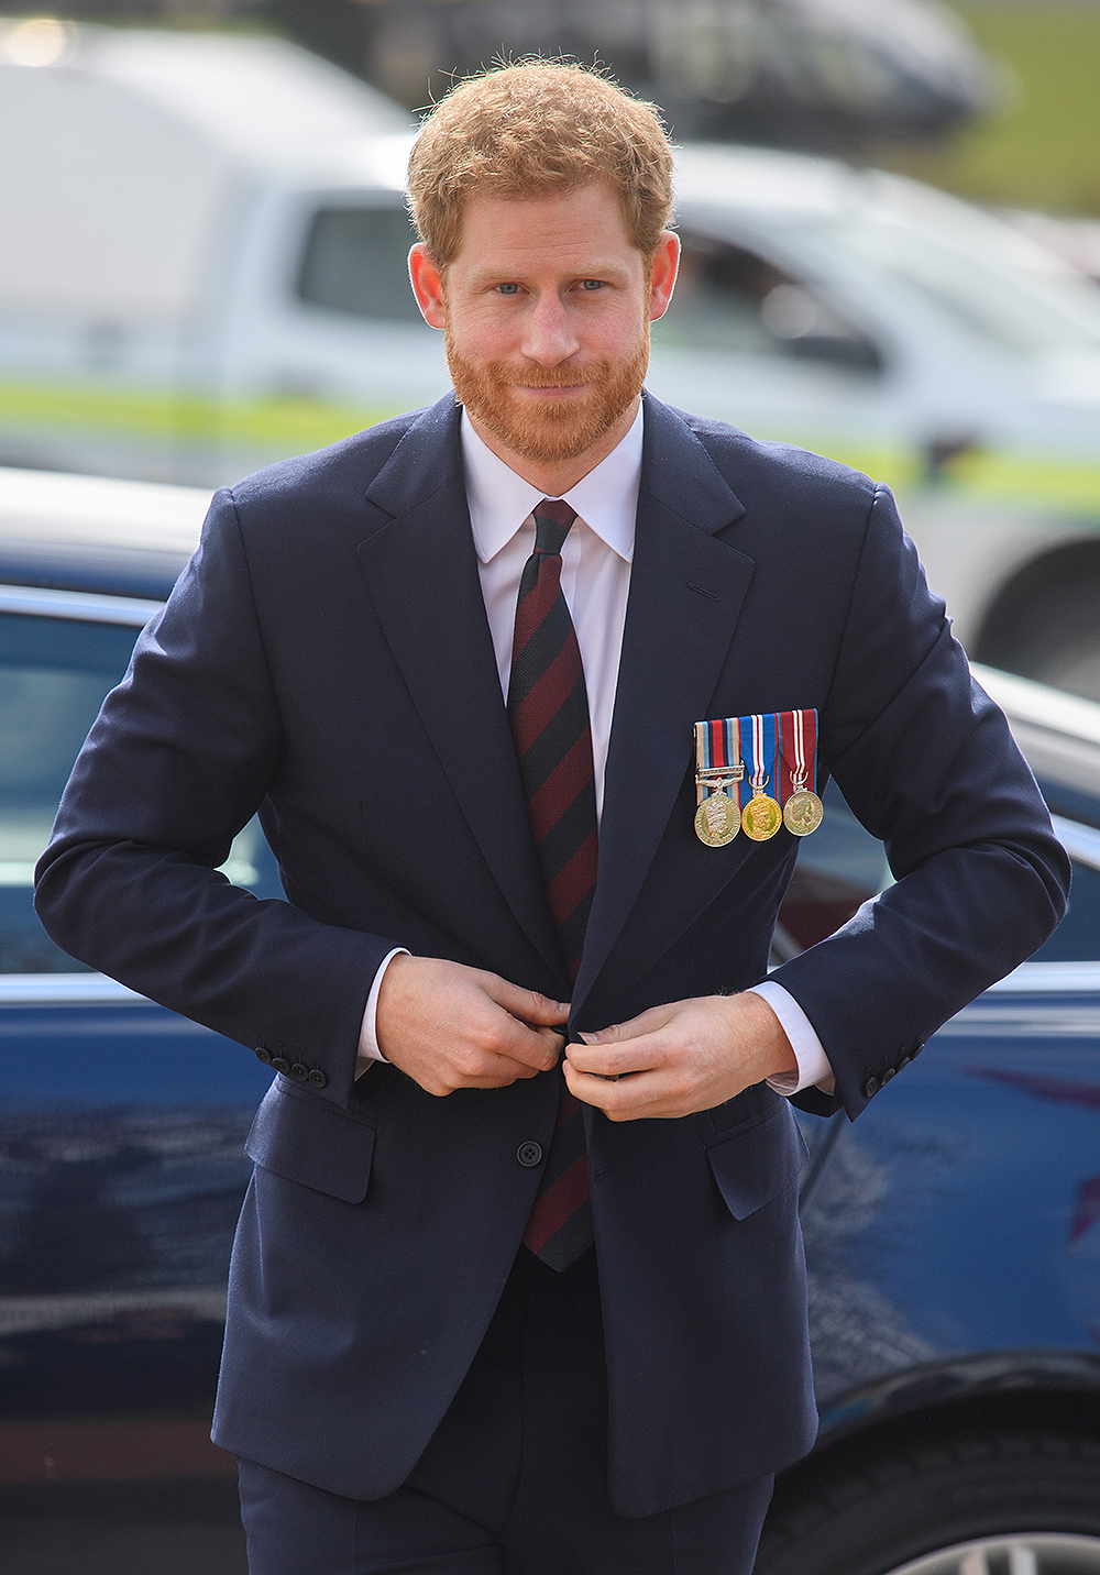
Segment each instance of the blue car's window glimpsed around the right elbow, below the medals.
[[[824,940],[848,923],[860,902],[892,882],[886,849],[865,832],[834,781],[824,792],[821,827],[802,838],[794,877],[779,917],[774,961]],[[1100,959],[1100,869],[1073,858],[1065,918],[1035,953],[1037,962]]]

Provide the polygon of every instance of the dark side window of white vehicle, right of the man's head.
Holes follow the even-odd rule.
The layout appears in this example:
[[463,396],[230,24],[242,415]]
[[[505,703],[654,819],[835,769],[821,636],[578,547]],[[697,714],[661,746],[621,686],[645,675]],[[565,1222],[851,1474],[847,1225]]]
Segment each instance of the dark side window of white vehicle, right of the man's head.
[[744,246],[681,233],[681,265],[657,345],[796,356],[853,372],[881,369],[875,346],[805,282]]

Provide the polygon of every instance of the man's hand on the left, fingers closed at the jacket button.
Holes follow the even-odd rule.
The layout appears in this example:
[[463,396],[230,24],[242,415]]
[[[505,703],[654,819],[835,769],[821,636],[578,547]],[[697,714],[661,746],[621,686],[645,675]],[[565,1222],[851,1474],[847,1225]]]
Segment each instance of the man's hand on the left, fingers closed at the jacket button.
[[378,991],[378,1049],[438,1096],[506,1088],[558,1065],[569,1003],[441,958],[396,956]]

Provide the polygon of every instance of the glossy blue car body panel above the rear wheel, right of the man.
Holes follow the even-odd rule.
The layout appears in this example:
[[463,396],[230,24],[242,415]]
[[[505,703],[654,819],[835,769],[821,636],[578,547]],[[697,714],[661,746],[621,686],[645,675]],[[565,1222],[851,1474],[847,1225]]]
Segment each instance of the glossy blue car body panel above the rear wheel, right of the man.
[[802,1221],[819,1447],[976,1359],[1002,1383],[1073,1356],[1073,1381],[1100,1383],[1100,989],[980,997],[818,1142]]

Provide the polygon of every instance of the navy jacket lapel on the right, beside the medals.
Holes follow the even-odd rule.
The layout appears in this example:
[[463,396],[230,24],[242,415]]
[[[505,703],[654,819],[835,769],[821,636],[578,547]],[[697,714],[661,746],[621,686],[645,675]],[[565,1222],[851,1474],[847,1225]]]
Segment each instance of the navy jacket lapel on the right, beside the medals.
[[744,506],[676,413],[646,395],[638,524],[604,780],[599,880],[574,1005],[641,890],[725,662],[753,561],[715,532]]

